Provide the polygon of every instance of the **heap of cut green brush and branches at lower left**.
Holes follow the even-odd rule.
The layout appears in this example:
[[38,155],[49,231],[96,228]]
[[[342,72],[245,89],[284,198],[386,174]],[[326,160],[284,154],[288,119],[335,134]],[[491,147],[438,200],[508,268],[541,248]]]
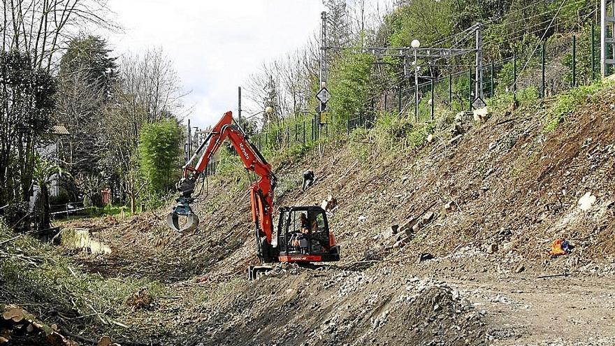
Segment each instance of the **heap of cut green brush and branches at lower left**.
[[[0,242],[16,235],[0,224]],[[0,303],[26,307],[34,304],[40,309],[33,312],[39,313],[41,319],[57,320],[55,314],[61,314],[88,327],[129,315],[131,308],[125,305],[126,299],[140,289],[146,289],[154,300],[167,294],[159,282],[84,273],[55,248],[27,235],[0,248],[0,283]],[[45,316],[45,312],[53,315]]]

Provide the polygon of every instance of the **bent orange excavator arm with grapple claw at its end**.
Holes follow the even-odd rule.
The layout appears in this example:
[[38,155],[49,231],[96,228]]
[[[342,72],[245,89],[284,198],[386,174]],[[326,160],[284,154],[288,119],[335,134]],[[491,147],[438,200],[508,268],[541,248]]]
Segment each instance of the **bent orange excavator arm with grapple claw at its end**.
[[[196,182],[205,172],[210,160],[220,149],[224,140],[229,140],[248,171],[254,172],[259,178],[249,187],[252,206],[252,222],[256,236],[256,246],[261,261],[270,262],[273,259],[273,190],[276,185],[275,174],[271,166],[252,144],[242,129],[233,123],[233,113],[226,112],[222,119],[213,127],[205,141],[196,150],[183,168],[182,178],[177,184],[180,196],[177,206],[167,217],[168,226],[176,231],[187,232],[198,227],[198,217],[191,209],[194,202],[193,194]],[[198,152],[203,152],[196,166],[191,166]],[[179,217],[187,217],[187,222],[180,227]]]

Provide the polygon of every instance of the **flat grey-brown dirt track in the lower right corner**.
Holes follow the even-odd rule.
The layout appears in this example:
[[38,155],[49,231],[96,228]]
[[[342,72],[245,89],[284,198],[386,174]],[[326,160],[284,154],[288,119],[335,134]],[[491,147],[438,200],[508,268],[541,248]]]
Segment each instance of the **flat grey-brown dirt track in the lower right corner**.
[[613,277],[449,282],[485,315],[493,345],[615,345]]

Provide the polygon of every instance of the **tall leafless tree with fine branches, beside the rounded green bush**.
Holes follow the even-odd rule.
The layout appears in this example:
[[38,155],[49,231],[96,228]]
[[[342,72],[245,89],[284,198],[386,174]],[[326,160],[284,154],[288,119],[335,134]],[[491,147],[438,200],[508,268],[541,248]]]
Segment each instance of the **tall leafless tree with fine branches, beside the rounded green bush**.
[[126,55],[120,63],[118,82],[104,117],[108,140],[106,165],[121,180],[131,210],[143,192],[145,182],[139,174],[138,143],[145,124],[176,117],[182,106],[180,80],[173,64],[162,50],[145,55]]

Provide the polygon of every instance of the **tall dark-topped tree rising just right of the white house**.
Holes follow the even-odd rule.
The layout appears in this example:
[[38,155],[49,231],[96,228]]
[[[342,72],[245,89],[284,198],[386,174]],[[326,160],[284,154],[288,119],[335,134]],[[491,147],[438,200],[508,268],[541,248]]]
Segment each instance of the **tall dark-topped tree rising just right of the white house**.
[[73,180],[64,180],[73,196],[83,193],[94,203],[99,187],[109,172],[101,165],[108,143],[103,136],[103,114],[111,100],[117,65],[105,40],[98,36],[78,36],[68,44],[60,59],[57,76],[55,120],[68,128],[62,166]]

